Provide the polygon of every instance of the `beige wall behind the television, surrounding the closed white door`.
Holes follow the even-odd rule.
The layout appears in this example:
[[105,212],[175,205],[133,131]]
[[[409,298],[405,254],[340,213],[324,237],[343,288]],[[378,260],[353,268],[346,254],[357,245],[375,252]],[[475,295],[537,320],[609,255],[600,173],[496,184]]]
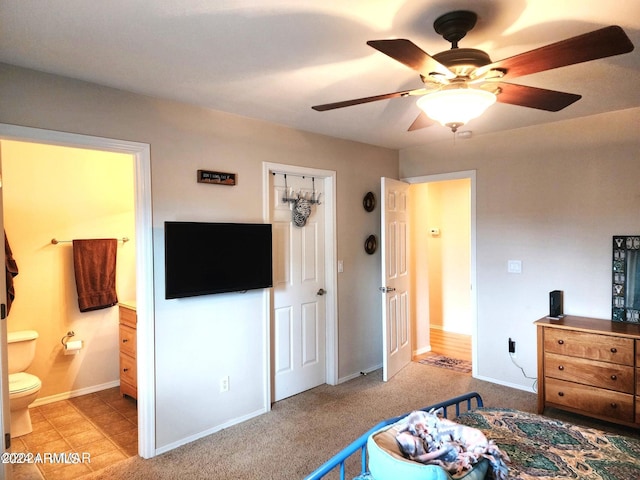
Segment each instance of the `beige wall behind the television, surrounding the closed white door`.
[[[338,349],[340,378],[381,363],[380,177],[398,177],[398,152],[301,132],[191,105],[0,65],[0,122],[148,143],[153,202],[156,445],[165,450],[268,406],[264,398],[263,296],[164,299],[163,222],[261,221],[262,164],[335,170],[337,175]],[[295,112],[292,112],[295,114]],[[233,172],[235,187],[196,183],[197,169]],[[231,390],[220,393],[219,379]]]

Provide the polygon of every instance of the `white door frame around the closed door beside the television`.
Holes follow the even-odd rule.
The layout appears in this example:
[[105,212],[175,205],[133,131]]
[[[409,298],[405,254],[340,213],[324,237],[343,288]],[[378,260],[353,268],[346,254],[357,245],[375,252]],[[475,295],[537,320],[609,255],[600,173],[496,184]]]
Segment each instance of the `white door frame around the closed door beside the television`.
[[[314,177],[316,180],[322,179],[324,195],[322,202],[325,206],[324,225],[324,271],[326,286],[326,342],[325,342],[325,382],[329,385],[338,383],[338,280],[337,280],[337,238],[336,238],[336,172],[334,170],[321,170],[317,168],[300,167],[296,165],[286,165],[280,163],[262,163],[262,216],[266,223],[271,223],[271,189],[270,179],[274,173],[304,175]],[[265,315],[265,398],[269,399],[271,405],[272,384],[274,382],[274,372],[271,361],[271,345],[273,341],[273,291],[268,296],[267,314]]]

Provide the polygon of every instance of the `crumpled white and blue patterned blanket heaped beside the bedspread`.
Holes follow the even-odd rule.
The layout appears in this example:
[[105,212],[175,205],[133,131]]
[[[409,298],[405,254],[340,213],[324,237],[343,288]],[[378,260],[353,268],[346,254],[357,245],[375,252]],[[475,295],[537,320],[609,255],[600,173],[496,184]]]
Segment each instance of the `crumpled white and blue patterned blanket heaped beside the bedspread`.
[[480,430],[442,418],[439,413],[417,410],[405,417],[396,441],[406,458],[439,465],[454,477],[486,458],[491,465],[490,478],[509,478],[509,457],[493,441]]

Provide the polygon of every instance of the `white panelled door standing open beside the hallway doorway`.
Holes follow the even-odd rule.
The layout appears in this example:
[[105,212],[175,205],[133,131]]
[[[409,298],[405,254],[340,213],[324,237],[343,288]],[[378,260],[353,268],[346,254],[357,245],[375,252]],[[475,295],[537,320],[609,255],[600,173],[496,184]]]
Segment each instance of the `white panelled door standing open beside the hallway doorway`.
[[411,361],[409,184],[382,178],[382,379]]

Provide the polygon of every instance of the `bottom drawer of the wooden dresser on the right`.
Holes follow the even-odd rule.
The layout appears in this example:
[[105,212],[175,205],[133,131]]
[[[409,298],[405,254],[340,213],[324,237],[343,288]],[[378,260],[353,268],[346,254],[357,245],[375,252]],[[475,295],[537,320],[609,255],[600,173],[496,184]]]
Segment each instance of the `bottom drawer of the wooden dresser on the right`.
[[545,401],[549,406],[577,410],[600,418],[634,421],[634,396],[545,378]]

